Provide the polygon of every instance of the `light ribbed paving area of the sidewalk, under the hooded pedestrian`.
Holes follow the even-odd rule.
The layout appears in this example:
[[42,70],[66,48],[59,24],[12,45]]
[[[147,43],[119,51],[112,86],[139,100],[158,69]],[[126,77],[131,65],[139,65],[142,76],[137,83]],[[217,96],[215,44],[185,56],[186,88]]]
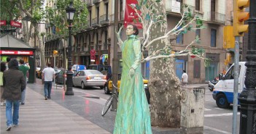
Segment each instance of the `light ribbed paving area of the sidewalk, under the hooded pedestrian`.
[[5,106],[1,106],[1,134],[109,134],[69,109],[27,87],[26,104],[20,105],[19,126],[6,131]]

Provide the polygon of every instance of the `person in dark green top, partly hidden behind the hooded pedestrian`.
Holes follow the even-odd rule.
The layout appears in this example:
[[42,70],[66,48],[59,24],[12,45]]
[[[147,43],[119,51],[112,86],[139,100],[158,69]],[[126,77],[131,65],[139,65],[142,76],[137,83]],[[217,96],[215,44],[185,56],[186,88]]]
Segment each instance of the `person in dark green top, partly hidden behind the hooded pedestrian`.
[[[24,60],[23,59],[20,59],[20,66],[19,66],[19,70],[21,72],[23,72],[23,75],[24,75],[24,78],[26,80],[26,83],[27,83],[27,75],[28,75],[28,70],[30,69],[30,66],[29,64],[27,63],[26,65],[24,64]],[[21,93],[21,100],[20,100],[20,103],[23,105],[25,104],[25,96],[26,96],[26,87],[25,89],[22,91]]]

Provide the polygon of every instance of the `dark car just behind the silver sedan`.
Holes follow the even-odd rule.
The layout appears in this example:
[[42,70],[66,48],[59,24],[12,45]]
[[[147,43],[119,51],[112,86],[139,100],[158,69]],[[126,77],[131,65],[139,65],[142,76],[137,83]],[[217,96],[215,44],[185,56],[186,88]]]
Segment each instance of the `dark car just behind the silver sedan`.
[[106,80],[112,78],[112,68],[109,65],[104,64],[90,64],[88,70],[98,70],[103,75],[106,75]]

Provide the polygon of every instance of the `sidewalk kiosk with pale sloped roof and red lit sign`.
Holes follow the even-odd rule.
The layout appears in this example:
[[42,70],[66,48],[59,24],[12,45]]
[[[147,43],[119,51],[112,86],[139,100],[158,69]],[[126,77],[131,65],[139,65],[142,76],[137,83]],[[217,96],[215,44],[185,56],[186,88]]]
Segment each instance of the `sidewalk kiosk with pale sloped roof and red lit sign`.
[[6,34],[1,36],[1,46],[0,46],[0,57],[1,62],[7,62],[7,57],[15,58],[18,61],[24,59],[24,62],[30,65],[30,70],[28,71],[28,83],[35,83],[35,50],[31,48],[28,44],[20,41],[12,35]]

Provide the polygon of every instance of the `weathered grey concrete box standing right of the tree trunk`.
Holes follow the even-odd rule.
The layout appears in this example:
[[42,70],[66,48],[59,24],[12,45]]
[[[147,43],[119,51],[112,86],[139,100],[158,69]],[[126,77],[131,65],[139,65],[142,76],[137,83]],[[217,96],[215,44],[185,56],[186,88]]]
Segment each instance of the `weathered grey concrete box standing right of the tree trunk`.
[[181,134],[203,134],[205,88],[182,86]]

